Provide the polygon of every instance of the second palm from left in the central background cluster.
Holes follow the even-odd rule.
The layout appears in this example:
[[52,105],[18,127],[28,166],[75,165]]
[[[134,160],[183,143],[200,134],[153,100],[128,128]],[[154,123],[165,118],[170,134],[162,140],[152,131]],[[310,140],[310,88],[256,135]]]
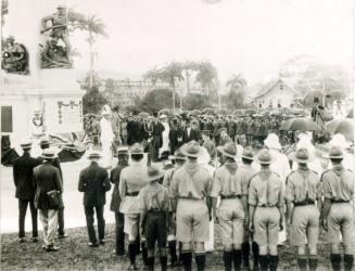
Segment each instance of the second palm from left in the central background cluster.
[[[160,74],[161,74],[161,80],[168,82],[170,85],[170,88],[173,90],[173,109],[175,112],[175,87],[176,87],[176,81],[183,80],[182,64],[173,61],[172,63],[163,67]],[[181,94],[180,94],[180,108],[181,107],[182,107],[182,102],[181,102]]]

